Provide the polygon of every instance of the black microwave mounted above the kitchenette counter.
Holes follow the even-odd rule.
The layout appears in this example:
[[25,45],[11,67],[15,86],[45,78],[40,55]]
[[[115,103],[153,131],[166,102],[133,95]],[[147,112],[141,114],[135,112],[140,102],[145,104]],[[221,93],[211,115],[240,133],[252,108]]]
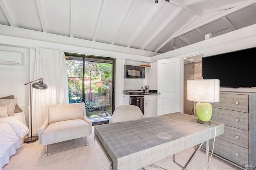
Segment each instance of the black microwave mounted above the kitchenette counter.
[[124,78],[145,78],[145,67],[124,65]]

